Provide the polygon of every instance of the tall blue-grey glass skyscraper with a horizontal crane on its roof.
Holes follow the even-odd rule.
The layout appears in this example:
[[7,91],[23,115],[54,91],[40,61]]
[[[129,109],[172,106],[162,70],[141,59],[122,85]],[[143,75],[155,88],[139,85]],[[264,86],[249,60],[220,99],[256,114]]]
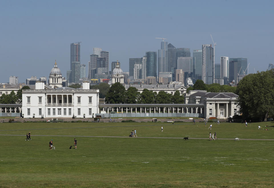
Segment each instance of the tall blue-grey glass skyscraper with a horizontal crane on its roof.
[[158,50],[158,73],[168,71],[168,42],[161,42],[161,49]]

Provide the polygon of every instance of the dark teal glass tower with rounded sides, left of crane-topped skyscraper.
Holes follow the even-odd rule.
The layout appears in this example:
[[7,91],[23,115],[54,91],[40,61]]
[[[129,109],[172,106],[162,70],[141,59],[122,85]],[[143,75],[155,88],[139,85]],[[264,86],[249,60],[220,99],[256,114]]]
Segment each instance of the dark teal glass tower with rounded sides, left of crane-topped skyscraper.
[[157,52],[146,52],[146,76],[157,78]]

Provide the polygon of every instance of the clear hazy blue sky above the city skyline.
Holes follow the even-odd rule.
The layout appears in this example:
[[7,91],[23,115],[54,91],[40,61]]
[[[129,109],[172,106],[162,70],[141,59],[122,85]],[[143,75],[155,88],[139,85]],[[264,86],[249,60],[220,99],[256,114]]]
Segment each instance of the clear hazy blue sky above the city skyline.
[[0,83],[15,75],[49,77],[55,60],[66,77],[70,43],[82,42],[81,64],[88,70],[92,49],[109,51],[128,72],[129,58],[158,53],[161,39],[176,48],[215,46],[221,56],[247,58],[249,73],[273,62],[274,1],[0,1]]

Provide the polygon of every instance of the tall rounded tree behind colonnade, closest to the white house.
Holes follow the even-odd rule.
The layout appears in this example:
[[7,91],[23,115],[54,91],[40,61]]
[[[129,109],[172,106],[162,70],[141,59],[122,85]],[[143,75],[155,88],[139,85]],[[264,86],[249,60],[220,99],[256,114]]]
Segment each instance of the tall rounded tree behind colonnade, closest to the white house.
[[106,94],[105,103],[121,104],[126,101],[126,89],[119,82],[114,83]]

